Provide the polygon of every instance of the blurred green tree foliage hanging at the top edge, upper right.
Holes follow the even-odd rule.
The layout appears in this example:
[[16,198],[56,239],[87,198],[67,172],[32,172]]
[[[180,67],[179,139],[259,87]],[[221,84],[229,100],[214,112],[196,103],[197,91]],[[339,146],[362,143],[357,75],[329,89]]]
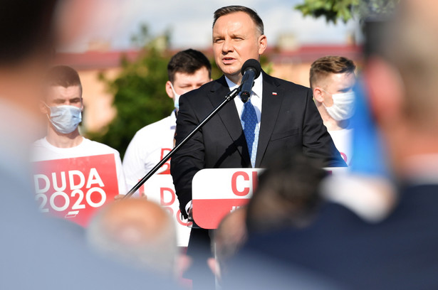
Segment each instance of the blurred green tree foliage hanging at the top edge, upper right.
[[392,11],[400,0],[304,0],[295,9],[304,16],[325,17],[327,22],[347,23],[357,15],[363,19],[370,15],[386,14]]

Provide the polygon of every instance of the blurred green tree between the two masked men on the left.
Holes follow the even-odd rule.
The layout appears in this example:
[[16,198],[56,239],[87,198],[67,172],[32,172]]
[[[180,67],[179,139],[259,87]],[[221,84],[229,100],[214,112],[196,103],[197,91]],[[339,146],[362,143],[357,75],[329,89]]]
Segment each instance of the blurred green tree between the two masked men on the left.
[[117,149],[123,156],[136,131],[168,116],[173,109],[165,92],[169,60],[165,53],[145,48],[132,63],[122,59],[122,71],[115,80],[100,75],[113,92],[117,117],[103,134],[88,134],[90,138]]

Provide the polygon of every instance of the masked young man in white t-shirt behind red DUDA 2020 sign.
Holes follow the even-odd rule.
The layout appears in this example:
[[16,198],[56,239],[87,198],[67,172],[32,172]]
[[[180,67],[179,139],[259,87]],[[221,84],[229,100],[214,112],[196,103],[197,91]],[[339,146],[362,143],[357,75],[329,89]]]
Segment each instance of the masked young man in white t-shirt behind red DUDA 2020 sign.
[[[51,68],[46,77],[45,90],[43,100],[40,104],[40,110],[43,114],[46,114],[48,118],[47,134],[44,138],[34,142],[31,161],[36,162],[37,168],[38,166],[41,167],[41,164],[46,166],[46,163],[42,161],[56,160],[65,162],[66,159],[70,159],[70,163],[74,163],[75,160],[78,162],[91,163],[88,164],[90,168],[89,173],[78,173],[77,171],[73,172],[71,168],[61,168],[55,175],[57,179],[51,176],[41,178],[40,181],[42,185],[40,184],[38,187],[38,183],[36,182],[36,191],[41,191],[41,188],[44,186],[48,186],[49,188],[51,185],[49,183],[52,183],[52,185],[53,183],[57,183],[55,186],[58,186],[58,188],[64,188],[67,184],[73,184],[74,189],[81,190],[91,188],[92,183],[95,183],[100,186],[106,186],[105,190],[107,191],[111,190],[111,192],[106,192],[106,194],[110,196],[126,193],[125,177],[122,171],[122,162],[119,152],[105,144],[86,139],[79,133],[78,124],[82,120],[83,98],[82,85],[78,73],[73,70],[73,68],[65,65],[58,65]],[[90,156],[101,156],[103,159],[93,159],[90,158]],[[85,157],[85,159],[80,159],[83,157]],[[112,186],[108,186],[108,183],[104,184],[103,181],[100,180],[102,176],[99,176],[99,174],[102,175],[102,173],[97,169],[98,166],[102,166],[102,164],[93,164],[93,161],[90,160],[103,160],[105,164],[108,164],[108,168],[104,168],[105,174],[110,172],[110,176],[116,176],[117,183],[111,181]],[[80,164],[78,168],[80,168]],[[67,173],[63,171],[67,171]],[[73,177],[71,181],[68,180],[68,172],[70,172]],[[35,178],[35,180],[37,181],[38,178]],[[46,184],[44,184],[45,182]],[[85,189],[79,188],[80,183],[86,183]],[[66,186],[64,191],[67,192],[67,190],[68,186]],[[84,195],[84,197],[86,196]],[[47,196],[47,198],[50,197]],[[90,197],[88,197],[88,199],[90,199]],[[108,200],[108,198],[105,197],[105,200]],[[68,201],[68,203],[73,203],[73,200]],[[80,203],[78,204],[80,205]],[[95,204],[93,203],[93,205]],[[81,208],[83,206],[84,205],[80,205],[79,207]],[[63,207],[61,206],[61,208]]]

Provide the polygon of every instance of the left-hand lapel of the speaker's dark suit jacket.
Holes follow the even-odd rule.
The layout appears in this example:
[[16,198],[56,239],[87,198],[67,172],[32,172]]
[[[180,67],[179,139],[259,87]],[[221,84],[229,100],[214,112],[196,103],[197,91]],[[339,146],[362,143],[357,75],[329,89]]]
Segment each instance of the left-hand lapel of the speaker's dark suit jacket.
[[[209,92],[209,99],[214,107],[217,107],[223,100],[226,94],[229,93],[229,87],[226,83],[225,77],[222,76],[217,80],[217,82],[212,86],[212,90]],[[242,130],[239,113],[237,112],[234,100],[231,100],[226,104],[219,112],[218,115],[224,124],[226,130],[231,136],[231,139],[236,146],[237,151],[244,159],[245,163],[251,164],[249,158],[248,147],[246,146],[246,141],[244,136],[244,131]],[[242,152],[244,150],[244,152]]]

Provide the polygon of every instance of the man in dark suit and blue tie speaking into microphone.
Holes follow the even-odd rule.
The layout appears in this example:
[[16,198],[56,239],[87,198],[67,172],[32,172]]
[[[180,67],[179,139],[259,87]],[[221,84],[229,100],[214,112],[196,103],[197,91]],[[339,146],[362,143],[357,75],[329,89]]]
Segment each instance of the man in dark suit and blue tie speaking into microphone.
[[[259,60],[266,45],[263,22],[252,9],[226,6],[214,13],[213,52],[224,76],[181,97],[177,144],[240,85],[242,65],[251,58]],[[261,73],[248,102],[244,104],[238,96],[226,104],[172,157],[171,173],[182,214],[191,213],[192,178],[197,171],[264,167],[284,151],[302,151],[325,166],[346,166],[323,125],[311,90]],[[194,229],[189,254],[195,240],[204,241],[199,251],[201,245],[209,251],[207,231]]]

